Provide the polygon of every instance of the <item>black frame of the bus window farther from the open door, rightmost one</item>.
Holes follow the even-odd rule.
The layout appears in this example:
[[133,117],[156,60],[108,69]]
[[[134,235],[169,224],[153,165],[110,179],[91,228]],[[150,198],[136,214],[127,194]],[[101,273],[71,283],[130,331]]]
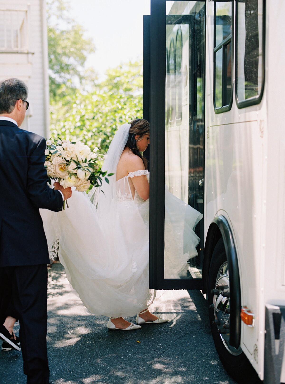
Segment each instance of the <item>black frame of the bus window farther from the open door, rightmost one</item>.
[[264,84],[265,84],[265,10],[266,10],[266,4],[265,0],[262,2],[262,84],[260,89],[260,94],[258,96],[254,96],[251,98],[248,98],[246,100],[239,101],[238,99],[238,86],[237,86],[237,79],[238,79],[238,1],[236,1],[236,9],[235,9],[235,57],[236,57],[236,63],[235,63],[235,78],[236,78],[236,84],[234,87],[234,93],[235,93],[235,99],[236,99],[236,106],[241,108],[246,108],[252,105],[259,104],[262,100],[263,93],[264,93]]

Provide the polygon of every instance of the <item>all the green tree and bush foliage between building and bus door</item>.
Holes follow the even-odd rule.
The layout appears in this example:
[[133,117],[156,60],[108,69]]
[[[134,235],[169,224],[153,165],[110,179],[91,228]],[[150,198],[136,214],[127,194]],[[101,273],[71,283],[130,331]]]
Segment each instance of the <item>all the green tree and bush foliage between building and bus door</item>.
[[51,136],[80,138],[104,154],[121,124],[143,117],[142,62],[109,69],[98,83],[95,72],[84,68],[92,41],[69,18],[64,0],[47,4]]

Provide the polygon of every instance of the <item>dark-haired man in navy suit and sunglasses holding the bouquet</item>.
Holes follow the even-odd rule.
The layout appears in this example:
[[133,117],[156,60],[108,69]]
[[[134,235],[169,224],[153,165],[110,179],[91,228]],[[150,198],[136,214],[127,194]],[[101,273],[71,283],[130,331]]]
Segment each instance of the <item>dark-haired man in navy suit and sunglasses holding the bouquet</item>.
[[19,128],[29,106],[27,96],[19,79],[0,83],[0,337],[20,350],[13,337],[19,319],[27,383],[48,384],[49,252],[39,208],[61,211],[72,192],[59,183],[55,190],[49,188],[46,141]]

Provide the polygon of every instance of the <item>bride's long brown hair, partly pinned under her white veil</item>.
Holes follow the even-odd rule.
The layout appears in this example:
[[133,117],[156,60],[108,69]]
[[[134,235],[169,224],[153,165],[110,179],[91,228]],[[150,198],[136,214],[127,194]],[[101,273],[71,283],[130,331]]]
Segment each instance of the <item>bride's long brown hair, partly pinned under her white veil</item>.
[[[141,155],[139,152],[137,142],[150,131],[149,122],[144,119],[134,119],[129,124],[131,127],[129,129],[129,137],[126,142],[126,147],[128,147],[135,155],[140,157],[144,162],[144,168],[147,169],[147,159]],[[139,135],[136,140],[134,137]]]

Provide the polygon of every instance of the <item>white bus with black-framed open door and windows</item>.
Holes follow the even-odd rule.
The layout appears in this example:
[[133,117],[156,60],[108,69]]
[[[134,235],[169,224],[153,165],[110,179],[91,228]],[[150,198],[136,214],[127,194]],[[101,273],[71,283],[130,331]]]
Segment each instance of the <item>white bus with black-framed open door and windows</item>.
[[[150,288],[203,290],[243,384],[285,382],[284,17],[284,0],[151,0],[144,17]],[[164,183],[203,213],[198,256],[174,279]]]

